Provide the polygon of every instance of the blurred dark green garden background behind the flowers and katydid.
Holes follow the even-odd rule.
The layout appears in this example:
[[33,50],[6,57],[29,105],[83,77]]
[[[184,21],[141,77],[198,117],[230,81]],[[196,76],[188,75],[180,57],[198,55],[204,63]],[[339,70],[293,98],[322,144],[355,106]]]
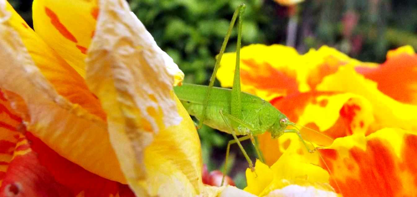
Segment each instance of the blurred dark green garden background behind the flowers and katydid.
[[[32,26],[31,0],[8,0]],[[185,82],[208,84],[234,10],[246,4],[242,46],[284,44],[299,53],[329,45],[361,61],[384,62],[387,50],[417,49],[414,0],[128,0],[131,9],[186,75]],[[236,29],[226,51],[234,51]],[[216,82],[219,86],[219,83]],[[232,136],[204,126],[198,130],[208,171],[221,169]],[[245,149],[255,158],[248,141]],[[231,147],[228,175],[246,186],[247,162]],[[233,170],[230,170],[233,169]]]

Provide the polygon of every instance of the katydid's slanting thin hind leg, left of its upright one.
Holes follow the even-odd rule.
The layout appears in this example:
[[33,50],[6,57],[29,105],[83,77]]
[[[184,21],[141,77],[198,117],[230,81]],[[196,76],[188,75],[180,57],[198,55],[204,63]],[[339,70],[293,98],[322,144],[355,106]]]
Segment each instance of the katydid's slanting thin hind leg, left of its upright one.
[[216,58],[216,64],[214,65],[214,70],[213,70],[213,73],[211,74],[211,77],[210,77],[210,82],[208,84],[206,98],[204,99],[204,102],[203,102],[203,112],[201,114],[200,121],[198,122],[198,129],[203,126],[203,122],[206,119],[207,104],[208,104],[208,100],[210,99],[211,89],[212,89],[212,87],[214,85],[214,81],[216,79],[217,70],[219,70],[221,57],[223,56],[224,51],[226,50],[226,45],[227,45],[227,42],[229,41],[229,37],[230,37],[231,32],[233,30],[234,23],[236,21],[237,16],[240,15],[242,7],[245,7],[245,5],[241,4],[236,8],[236,11],[233,14],[232,20],[230,21],[230,25],[229,25],[229,29],[227,30],[226,37],[224,37],[223,44],[221,45],[219,55]]

